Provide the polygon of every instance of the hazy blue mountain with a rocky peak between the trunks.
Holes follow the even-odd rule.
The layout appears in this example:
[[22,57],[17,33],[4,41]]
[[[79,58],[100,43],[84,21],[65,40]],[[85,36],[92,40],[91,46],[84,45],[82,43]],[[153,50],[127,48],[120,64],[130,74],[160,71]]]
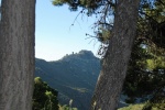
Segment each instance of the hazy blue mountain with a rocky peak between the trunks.
[[35,76],[58,91],[59,103],[88,110],[100,72],[100,59],[90,51],[80,51],[59,61],[35,59]]

